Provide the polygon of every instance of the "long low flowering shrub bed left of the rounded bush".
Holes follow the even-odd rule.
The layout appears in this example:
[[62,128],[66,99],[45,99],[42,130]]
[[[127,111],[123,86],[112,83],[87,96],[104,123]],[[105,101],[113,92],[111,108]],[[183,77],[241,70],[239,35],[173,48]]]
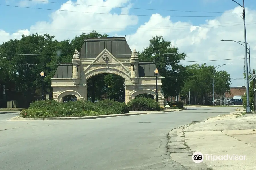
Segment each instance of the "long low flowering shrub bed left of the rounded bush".
[[125,103],[114,100],[69,101],[61,103],[53,100],[35,101],[28,109],[21,111],[22,117],[77,117],[128,113]]

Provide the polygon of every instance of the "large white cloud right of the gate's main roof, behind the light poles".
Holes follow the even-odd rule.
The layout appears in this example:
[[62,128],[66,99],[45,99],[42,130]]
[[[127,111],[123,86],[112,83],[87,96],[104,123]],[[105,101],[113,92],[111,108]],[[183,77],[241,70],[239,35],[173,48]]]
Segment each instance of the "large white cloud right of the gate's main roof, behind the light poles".
[[[236,7],[226,12],[239,13],[241,10],[241,7]],[[225,15],[226,14],[223,14],[222,16]],[[171,17],[161,17],[159,14],[153,14],[148,22],[138,28],[136,33],[127,36],[130,47],[142,50],[148,46],[149,40],[157,34],[163,35],[166,40],[175,44],[180,52],[185,52],[188,56],[185,61],[235,59],[244,57],[245,50],[240,44],[232,41],[220,42],[222,39],[244,41],[243,19],[240,16],[218,17],[212,20],[206,20],[205,24],[202,25],[192,25],[188,22],[174,23],[170,19]],[[256,52],[256,33],[254,31],[256,24],[255,10],[246,9],[246,22],[247,42],[250,42],[251,58],[253,58],[256,57],[254,55]],[[143,37],[143,39],[139,37]],[[195,63],[203,62],[184,64]],[[227,70],[232,78],[243,78],[243,59],[208,61],[206,63],[208,65],[232,63],[233,65],[225,65],[218,70]],[[256,59],[251,59],[251,69],[253,69],[253,65],[255,64]],[[232,80],[232,82],[233,86],[243,86],[243,80]]]

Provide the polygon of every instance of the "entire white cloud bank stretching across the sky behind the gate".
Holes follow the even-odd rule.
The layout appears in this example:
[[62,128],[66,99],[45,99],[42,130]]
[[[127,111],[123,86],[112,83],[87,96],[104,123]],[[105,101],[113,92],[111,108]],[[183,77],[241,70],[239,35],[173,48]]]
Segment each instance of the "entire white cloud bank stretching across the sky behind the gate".
[[[64,12],[56,11],[51,14],[49,22],[39,21],[30,27],[30,33],[50,33],[55,35],[57,40],[73,38],[82,32],[96,30],[99,33],[112,32],[112,35],[120,35],[121,31],[127,33],[127,41],[131,49],[143,50],[149,44],[149,40],[156,34],[163,35],[166,40],[171,41],[177,46],[180,52],[187,54],[186,61],[201,61],[214,59],[234,59],[244,57],[244,47],[235,42],[220,42],[220,40],[244,41],[243,20],[239,16],[242,12],[241,7],[226,12],[235,12],[236,17],[209,18],[202,25],[193,25],[190,22],[172,22],[172,17],[162,17],[159,14],[152,14],[149,21],[140,25],[139,28],[131,29],[138,23],[136,16],[128,15],[108,15],[95,13],[113,13],[112,7],[131,6],[130,0],[78,0],[77,4],[90,4],[112,7],[94,7],[85,5],[71,5],[68,1],[61,5],[60,10],[80,11]],[[119,10],[115,8],[115,10]],[[120,13],[120,12],[119,12]],[[121,14],[129,14],[128,9],[122,9]],[[226,14],[223,14],[225,16]],[[233,15],[233,14],[228,14]],[[251,57],[255,57],[256,36],[254,26],[256,24],[256,11],[246,8],[247,21],[247,42],[250,42]],[[129,27],[129,28],[127,28]],[[125,29],[126,28],[126,29]],[[7,41],[10,38],[20,36],[22,31],[15,34],[0,33],[0,41]],[[28,30],[24,30],[28,33]],[[135,32],[135,33],[133,33]],[[256,64],[256,59],[251,59],[251,67]],[[195,62],[203,63],[203,62]],[[208,65],[220,65],[223,63],[233,63],[225,65],[220,69],[227,70],[232,78],[243,78],[243,59],[228,61],[211,61]],[[193,63],[184,63],[193,64]],[[218,69],[218,70],[220,70]],[[232,86],[242,86],[243,80],[234,80]]]

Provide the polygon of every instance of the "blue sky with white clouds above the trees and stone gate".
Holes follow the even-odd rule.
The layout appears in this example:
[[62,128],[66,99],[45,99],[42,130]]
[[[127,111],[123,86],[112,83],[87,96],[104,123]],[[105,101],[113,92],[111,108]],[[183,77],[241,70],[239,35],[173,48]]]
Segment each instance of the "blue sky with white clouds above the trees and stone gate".
[[[50,2],[59,2],[66,3],[67,1],[62,0],[49,0]],[[92,5],[93,0],[80,0],[80,3],[86,5]],[[103,1],[103,0],[102,0]],[[125,0],[109,0],[113,4],[115,2]],[[129,0],[127,0],[129,1]],[[242,3],[242,0],[237,0],[239,3]],[[58,10],[62,4],[59,3],[37,3],[33,4],[31,1],[29,7],[34,8],[47,8]],[[76,1],[73,1],[75,3]],[[90,3],[91,2],[91,3]],[[59,37],[58,40],[73,38],[76,35],[79,35],[83,30],[92,30],[94,28],[105,29],[108,27],[108,30],[113,28],[126,27],[123,31],[112,31],[108,33],[110,36],[127,35],[127,42],[131,48],[136,48],[142,50],[144,47],[148,46],[149,39],[151,39],[156,34],[164,35],[164,38],[173,42],[174,45],[180,49],[181,52],[188,54],[187,60],[189,61],[201,61],[201,60],[214,60],[214,59],[233,59],[233,58],[243,58],[244,50],[243,47],[233,43],[233,42],[219,42],[221,39],[234,39],[238,41],[243,41],[243,20],[241,17],[210,17],[210,16],[221,16],[223,12],[227,10],[232,10],[231,12],[241,13],[242,8],[238,7],[236,3],[232,0],[130,0],[129,3],[132,3],[132,8],[149,8],[149,9],[163,9],[163,10],[181,10],[181,11],[205,11],[205,12],[220,12],[220,13],[203,13],[203,12],[178,12],[178,11],[162,11],[162,10],[138,10],[130,9],[129,14],[135,15],[148,15],[148,16],[137,16],[136,17],[123,17],[119,16],[119,19],[113,20],[114,17],[111,17],[107,14],[98,14],[96,18],[107,18],[108,25],[105,23],[93,23],[95,18],[90,17],[90,15],[83,18],[80,14],[80,18],[73,15],[73,12],[65,12],[65,14],[56,14],[52,10],[41,10],[41,9],[31,9],[31,8],[20,8],[20,7],[9,7],[0,5],[0,30],[7,32],[5,36],[1,35],[0,32],[0,42],[7,41],[10,38],[16,38],[20,34],[12,35],[20,29],[30,29],[30,26],[36,25],[36,30],[42,28],[42,30],[50,30],[49,33]],[[15,5],[20,6],[20,0],[0,0],[0,4],[3,5]],[[95,5],[95,4],[94,4]],[[96,4],[97,5],[97,4]],[[126,4],[128,5],[128,4]],[[111,6],[111,5],[110,5]],[[125,5],[123,5],[125,6]],[[81,6],[80,6],[81,7]],[[88,10],[88,6],[84,6],[84,12]],[[256,33],[255,25],[256,24],[256,0],[245,0],[245,7],[249,8],[249,11],[246,15],[247,24],[247,39],[251,44],[251,57],[256,57]],[[81,9],[81,8],[80,8]],[[92,7],[91,9],[94,10]],[[106,11],[106,7],[95,7],[97,13],[101,10]],[[71,9],[72,10],[72,9]],[[74,9],[76,11],[77,9]],[[120,13],[120,8],[113,8],[110,13]],[[105,13],[105,12],[103,12]],[[171,16],[170,20],[165,17],[150,17],[152,14],[160,14],[161,16]],[[50,16],[55,15],[53,18]],[[79,13],[75,13],[78,15]],[[61,15],[64,18],[61,18]],[[235,14],[225,14],[225,15],[235,15]],[[203,16],[203,17],[173,17],[173,16]],[[95,17],[95,15],[93,16]],[[58,19],[61,18],[61,19]],[[118,17],[117,17],[118,18]],[[55,20],[54,20],[55,19]],[[125,21],[124,21],[125,20]],[[215,27],[214,24],[209,28],[209,22],[206,20],[211,20],[211,23],[220,23],[220,25],[225,25],[227,23],[240,23],[238,26],[228,27]],[[46,23],[42,23],[45,21]],[[77,27],[81,27],[82,31],[76,31],[77,33],[69,34],[65,33],[67,29],[71,29],[75,26],[74,22],[77,23]],[[81,24],[81,22],[87,22],[86,24]],[[134,22],[135,24],[126,24],[127,22]],[[69,23],[72,23],[68,25]],[[79,25],[80,24],[80,25]],[[188,25],[189,24],[189,25]],[[205,25],[204,25],[205,24]],[[251,25],[250,25],[251,24]],[[111,25],[111,26],[109,26]],[[113,26],[114,25],[114,26]],[[174,28],[171,28],[174,25]],[[177,26],[178,25],[178,26]],[[179,27],[184,27],[187,25],[186,30],[179,29]],[[203,26],[202,26],[203,25]],[[156,30],[152,29],[139,32],[139,27],[144,26],[150,29],[150,27],[169,27],[170,31],[167,29]],[[188,27],[189,26],[189,27]],[[191,31],[191,27],[201,26],[195,31]],[[133,27],[133,29],[128,29]],[[66,29],[58,33],[56,30]],[[174,29],[174,30],[172,30]],[[55,31],[53,31],[55,30]],[[106,30],[106,29],[105,29]],[[10,33],[10,35],[8,35]],[[31,32],[30,32],[31,33]],[[47,33],[47,30],[45,31]],[[4,37],[4,38],[3,38]],[[143,37],[143,38],[141,38]],[[227,50],[227,51],[225,51]],[[215,51],[215,52],[214,52]],[[207,62],[208,65],[220,65],[223,63],[233,63],[232,66],[221,67],[228,71],[231,74],[232,86],[243,86],[243,60],[228,60],[228,61],[211,61]],[[202,64],[203,62],[199,62]],[[195,63],[187,63],[195,64]],[[251,60],[251,65],[256,65],[255,59]],[[256,68],[255,68],[256,69]]]

